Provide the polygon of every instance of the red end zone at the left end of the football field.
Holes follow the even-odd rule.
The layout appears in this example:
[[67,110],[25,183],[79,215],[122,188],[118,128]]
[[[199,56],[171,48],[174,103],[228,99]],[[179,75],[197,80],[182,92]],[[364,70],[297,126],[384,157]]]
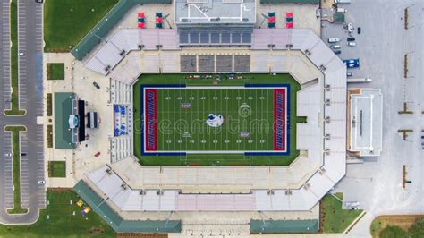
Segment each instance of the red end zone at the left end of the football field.
[[146,150],[157,150],[157,89],[145,90],[145,141]]

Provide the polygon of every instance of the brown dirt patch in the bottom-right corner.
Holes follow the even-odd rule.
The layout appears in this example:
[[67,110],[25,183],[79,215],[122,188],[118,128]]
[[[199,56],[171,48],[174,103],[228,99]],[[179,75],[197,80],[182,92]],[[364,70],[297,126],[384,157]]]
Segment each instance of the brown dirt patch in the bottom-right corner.
[[387,225],[396,225],[407,231],[417,218],[424,215],[384,215],[377,217],[371,224],[371,234],[378,237],[378,234],[386,228]]

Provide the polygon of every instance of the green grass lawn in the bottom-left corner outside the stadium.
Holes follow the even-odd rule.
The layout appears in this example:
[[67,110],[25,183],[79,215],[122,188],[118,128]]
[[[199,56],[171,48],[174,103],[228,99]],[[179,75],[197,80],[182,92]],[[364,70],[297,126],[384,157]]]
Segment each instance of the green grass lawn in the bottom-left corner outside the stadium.
[[40,210],[35,224],[0,225],[0,237],[116,237],[95,212],[82,216],[81,208],[75,205],[78,200],[71,190],[49,189],[47,209]]

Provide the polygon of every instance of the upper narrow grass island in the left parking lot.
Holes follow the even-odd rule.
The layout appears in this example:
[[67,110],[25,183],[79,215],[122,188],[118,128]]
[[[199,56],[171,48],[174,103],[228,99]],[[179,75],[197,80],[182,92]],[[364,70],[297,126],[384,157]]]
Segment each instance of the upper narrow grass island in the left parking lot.
[[19,109],[19,79],[18,79],[18,8],[17,1],[11,2],[11,110],[5,110],[5,115],[24,115],[25,111]]

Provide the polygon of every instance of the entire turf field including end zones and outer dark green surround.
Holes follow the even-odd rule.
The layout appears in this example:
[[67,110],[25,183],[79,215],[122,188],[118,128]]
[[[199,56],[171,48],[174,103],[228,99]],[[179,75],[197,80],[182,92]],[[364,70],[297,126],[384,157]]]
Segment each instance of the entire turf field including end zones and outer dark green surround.
[[289,74],[191,76],[144,74],[134,85],[141,165],[287,166],[299,156],[296,123],[305,118]]

